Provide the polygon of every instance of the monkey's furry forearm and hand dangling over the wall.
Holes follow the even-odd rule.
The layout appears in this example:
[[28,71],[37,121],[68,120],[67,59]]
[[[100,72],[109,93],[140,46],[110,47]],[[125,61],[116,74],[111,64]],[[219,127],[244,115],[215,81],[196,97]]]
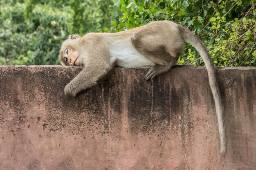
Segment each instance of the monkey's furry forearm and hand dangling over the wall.
[[107,75],[115,67],[116,57],[110,57],[110,60],[102,64],[87,64],[85,68],[65,86],[64,93],[67,98],[74,98],[82,90],[92,87]]

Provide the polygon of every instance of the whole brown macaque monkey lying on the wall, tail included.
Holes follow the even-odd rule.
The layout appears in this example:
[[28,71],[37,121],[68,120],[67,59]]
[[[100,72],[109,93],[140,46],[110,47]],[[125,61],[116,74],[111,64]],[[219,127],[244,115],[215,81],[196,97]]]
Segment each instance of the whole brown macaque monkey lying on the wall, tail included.
[[171,21],[155,21],[118,33],[70,35],[61,46],[60,62],[64,66],[84,66],[65,86],[67,97],[75,97],[90,88],[115,66],[150,68],[146,80],[168,71],[184,51],[184,41],[191,43],[202,56],[213,94],[220,135],[220,152],[226,152],[223,104],[216,71],[209,52],[200,39],[184,26]]

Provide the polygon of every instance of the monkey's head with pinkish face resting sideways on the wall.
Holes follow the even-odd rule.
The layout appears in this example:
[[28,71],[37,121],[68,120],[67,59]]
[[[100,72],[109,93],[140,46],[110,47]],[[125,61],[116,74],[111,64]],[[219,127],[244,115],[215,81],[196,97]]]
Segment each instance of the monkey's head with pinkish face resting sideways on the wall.
[[62,43],[59,57],[63,66],[84,66],[79,55],[79,40],[79,35],[72,34]]

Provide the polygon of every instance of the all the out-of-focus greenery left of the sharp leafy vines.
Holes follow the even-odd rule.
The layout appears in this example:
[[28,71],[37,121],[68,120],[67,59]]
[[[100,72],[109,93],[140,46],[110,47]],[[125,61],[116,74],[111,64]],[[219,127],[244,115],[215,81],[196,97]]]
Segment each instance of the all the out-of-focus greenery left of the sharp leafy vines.
[[102,32],[116,20],[114,0],[0,2],[0,65],[60,64],[71,33]]

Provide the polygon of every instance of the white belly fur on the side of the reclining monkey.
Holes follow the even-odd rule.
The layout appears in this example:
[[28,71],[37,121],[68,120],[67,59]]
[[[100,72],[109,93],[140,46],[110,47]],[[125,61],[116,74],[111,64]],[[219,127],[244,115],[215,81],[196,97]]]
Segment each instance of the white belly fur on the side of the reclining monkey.
[[117,66],[126,68],[148,68],[155,63],[145,57],[133,46],[130,38],[116,40],[109,43],[111,57],[117,58]]

